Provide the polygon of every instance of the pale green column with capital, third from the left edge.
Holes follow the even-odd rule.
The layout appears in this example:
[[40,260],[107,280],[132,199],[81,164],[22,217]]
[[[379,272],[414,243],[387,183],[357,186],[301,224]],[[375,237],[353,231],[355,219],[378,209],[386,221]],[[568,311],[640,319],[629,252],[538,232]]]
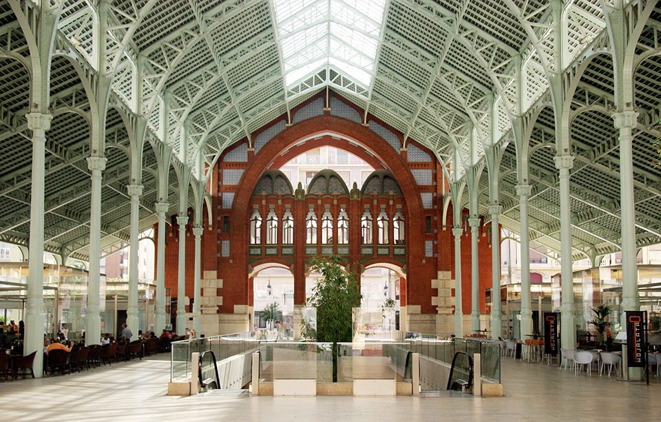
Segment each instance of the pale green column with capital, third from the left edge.
[[140,221],[140,195],[143,194],[141,184],[127,186],[131,196],[131,229],[129,242],[129,304],[126,310],[126,325],[133,333],[132,340],[138,338],[138,222]]

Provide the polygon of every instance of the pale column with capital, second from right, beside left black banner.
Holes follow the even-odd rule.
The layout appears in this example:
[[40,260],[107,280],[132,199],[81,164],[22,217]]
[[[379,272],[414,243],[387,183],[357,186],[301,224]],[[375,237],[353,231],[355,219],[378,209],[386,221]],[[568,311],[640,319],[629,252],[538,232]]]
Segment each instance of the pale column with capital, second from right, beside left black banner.
[[571,203],[569,202],[569,170],[574,157],[556,156],[556,169],[560,170],[560,257],[562,304],[560,306],[560,346],[576,348],[574,323],[574,275],[571,257]]

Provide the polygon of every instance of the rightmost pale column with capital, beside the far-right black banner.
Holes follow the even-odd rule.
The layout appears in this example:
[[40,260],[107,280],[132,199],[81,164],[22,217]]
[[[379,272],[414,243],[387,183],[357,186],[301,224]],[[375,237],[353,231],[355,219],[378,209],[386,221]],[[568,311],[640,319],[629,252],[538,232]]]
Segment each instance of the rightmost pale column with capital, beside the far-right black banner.
[[636,127],[636,112],[613,114],[620,130],[620,209],[622,215],[622,326],[625,310],[638,310],[638,265],[636,264],[636,219],[633,211],[633,156],[631,129]]

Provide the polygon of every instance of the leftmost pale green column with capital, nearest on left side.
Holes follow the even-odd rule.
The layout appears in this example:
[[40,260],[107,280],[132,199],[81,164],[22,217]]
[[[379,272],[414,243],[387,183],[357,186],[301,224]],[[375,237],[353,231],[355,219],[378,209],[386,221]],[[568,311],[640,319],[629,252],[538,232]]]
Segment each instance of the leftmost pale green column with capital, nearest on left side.
[[[30,197],[30,262],[28,264],[28,303],[25,312],[25,340],[23,355],[36,351],[34,376],[41,378],[43,366],[43,183],[45,165],[45,131],[50,129],[50,114],[28,114],[28,128],[32,131],[32,194]],[[55,321],[57,324],[57,321]]]

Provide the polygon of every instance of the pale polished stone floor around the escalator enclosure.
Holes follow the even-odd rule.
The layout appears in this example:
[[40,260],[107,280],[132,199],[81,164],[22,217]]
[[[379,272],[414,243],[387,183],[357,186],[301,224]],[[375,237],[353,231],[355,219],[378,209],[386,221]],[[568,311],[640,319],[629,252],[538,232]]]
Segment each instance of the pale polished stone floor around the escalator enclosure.
[[503,358],[505,397],[247,397],[165,395],[169,357],[80,374],[0,381],[0,421],[661,421],[650,386]]

